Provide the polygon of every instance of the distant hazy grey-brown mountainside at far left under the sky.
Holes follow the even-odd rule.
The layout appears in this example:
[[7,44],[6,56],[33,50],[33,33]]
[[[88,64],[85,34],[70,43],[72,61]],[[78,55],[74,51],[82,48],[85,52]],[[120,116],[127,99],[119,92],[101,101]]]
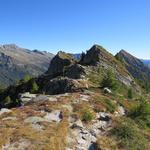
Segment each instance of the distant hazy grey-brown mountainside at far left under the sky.
[[20,48],[14,44],[0,46],[0,86],[8,86],[25,75],[43,74],[53,54]]

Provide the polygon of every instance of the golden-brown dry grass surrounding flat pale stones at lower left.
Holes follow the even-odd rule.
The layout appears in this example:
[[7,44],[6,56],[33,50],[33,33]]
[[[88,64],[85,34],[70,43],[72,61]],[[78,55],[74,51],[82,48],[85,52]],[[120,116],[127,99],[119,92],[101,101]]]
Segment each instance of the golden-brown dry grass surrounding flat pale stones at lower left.
[[[31,124],[24,123],[24,119],[29,116],[42,116],[39,106],[45,106],[46,109],[60,109],[63,112],[63,120],[57,122],[41,122],[44,130],[37,131]],[[44,102],[36,103],[31,106],[25,106],[20,109],[13,109],[13,112],[4,114],[0,119],[0,147],[8,143],[15,143],[19,139],[30,141],[28,150],[64,150],[66,145],[66,136],[68,133],[68,110],[61,108],[57,103]],[[17,120],[5,120],[5,117],[17,117]]]

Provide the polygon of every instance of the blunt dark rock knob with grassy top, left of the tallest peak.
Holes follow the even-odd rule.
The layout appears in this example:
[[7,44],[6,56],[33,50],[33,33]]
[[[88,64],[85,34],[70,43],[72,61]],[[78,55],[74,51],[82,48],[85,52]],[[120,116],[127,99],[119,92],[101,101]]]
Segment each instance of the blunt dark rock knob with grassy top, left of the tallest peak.
[[46,74],[48,74],[52,78],[57,76],[63,76],[65,67],[70,66],[74,62],[75,60],[72,55],[60,51],[52,59]]

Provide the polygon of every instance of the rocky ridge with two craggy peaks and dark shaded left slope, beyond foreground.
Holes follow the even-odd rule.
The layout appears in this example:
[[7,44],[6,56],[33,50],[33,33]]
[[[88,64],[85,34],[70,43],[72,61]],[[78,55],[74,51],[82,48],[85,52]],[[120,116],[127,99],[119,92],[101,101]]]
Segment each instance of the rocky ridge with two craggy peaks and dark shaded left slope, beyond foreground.
[[[35,83],[38,87],[36,92],[45,94],[62,94],[82,91],[87,88],[99,88],[108,71],[112,71],[112,74],[114,74],[115,80],[118,82],[118,88],[124,86],[120,90],[133,88],[135,92],[140,94],[139,85],[125,66],[106,49],[94,45],[79,61],[74,59],[71,54],[58,52],[45,74],[28,82],[10,86],[0,95],[0,99],[3,100],[9,95],[13,99],[10,106],[14,106],[19,93],[32,92]],[[127,90],[125,93],[127,94]],[[1,101],[1,105],[5,104]]]

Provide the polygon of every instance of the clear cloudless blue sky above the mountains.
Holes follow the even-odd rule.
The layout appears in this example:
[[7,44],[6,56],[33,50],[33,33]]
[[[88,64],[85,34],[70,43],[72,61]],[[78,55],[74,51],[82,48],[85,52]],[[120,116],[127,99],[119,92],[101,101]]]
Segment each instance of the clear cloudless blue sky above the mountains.
[[150,59],[150,0],[0,0],[0,44],[80,53],[102,45]]

